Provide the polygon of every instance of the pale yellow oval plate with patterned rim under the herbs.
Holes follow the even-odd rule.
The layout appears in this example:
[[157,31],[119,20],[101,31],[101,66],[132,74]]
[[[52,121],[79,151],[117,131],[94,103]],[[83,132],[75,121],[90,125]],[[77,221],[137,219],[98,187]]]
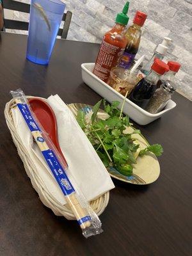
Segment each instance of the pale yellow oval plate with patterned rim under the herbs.
[[[81,103],[72,103],[69,104],[68,107],[74,113],[74,115],[77,115],[78,109],[83,109],[83,111],[86,112],[86,118],[90,118],[92,106],[81,104]],[[90,115],[89,115],[90,113]],[[108,114],[106,114],[102,109],[98,112],[98,118],[106,119],[108,117]],[[127,130],[125,132],[132,132],[134,129],[132,127],[127,127]],[[140,148],[143,149],[147,147],[148,142],[147,140],[140,134],[133,134],[133,138],[137,140],[137,142],[140,144]],[[111,177],[122,180],[124,182],[137,184],[137,185],[145,185],[150,184],[154,181],[156,181],[160,174],[160,166],[159,162],[157,160],[157,157],[152,154],[148,153],[147,155],[137,158],[137,163],[133,164],[133,174],[132,176],[125,176],[118,172],[115,168],[108,168],[108,172],[111,175]]]

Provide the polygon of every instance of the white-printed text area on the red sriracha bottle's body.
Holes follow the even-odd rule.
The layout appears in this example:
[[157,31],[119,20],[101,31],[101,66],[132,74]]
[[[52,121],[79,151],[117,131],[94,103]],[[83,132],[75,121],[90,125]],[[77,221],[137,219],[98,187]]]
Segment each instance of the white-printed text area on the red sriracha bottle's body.
[[111,45],[103,40],[102,44],[100,45],[100,51],[93,69],[93,74],[104,82],[108,81],[111,68],[116,66],[122,57],[124,50],[124,48]]

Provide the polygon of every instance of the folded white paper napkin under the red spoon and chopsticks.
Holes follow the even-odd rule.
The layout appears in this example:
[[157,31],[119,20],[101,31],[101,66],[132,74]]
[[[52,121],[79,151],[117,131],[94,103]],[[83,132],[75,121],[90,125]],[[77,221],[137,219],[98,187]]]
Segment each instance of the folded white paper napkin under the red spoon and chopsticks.
[[[88,201],[106,193],[115,186],[104,164],[86,138],[76,118],[58,95],[48,98],[47,102],[56,115],[60,147],[68,163],[68,173],[72,173],[77,186]],[[60,204],[66,204],[65,197],[44,161],[40,149],[33,141],[31,132],[18,108],[12,109],[13,122],[20,140],[26,147],[33,163],[38,168],[42,182]]]

